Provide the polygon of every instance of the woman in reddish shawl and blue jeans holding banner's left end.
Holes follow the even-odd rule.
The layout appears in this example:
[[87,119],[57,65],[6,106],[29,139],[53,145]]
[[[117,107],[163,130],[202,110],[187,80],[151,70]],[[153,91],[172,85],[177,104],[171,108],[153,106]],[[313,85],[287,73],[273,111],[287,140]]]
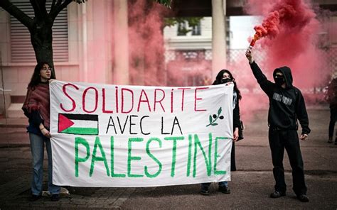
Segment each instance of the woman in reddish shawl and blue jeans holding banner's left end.
[[36,201],[42,196],[43,183],[43,154],[44,144],[48,154],[48,191],[52,201],[60,199],[60,187],[53,184],[53,162],[50,145],[50,98],[49,79],[55,79],[52,67],[47,62],[39,62],[36,65],[28,84],[27,95],[22,109],[28,117],[29,140],[31,142],[31,154],[33,157],[33,180],[31,182],[30,201]]

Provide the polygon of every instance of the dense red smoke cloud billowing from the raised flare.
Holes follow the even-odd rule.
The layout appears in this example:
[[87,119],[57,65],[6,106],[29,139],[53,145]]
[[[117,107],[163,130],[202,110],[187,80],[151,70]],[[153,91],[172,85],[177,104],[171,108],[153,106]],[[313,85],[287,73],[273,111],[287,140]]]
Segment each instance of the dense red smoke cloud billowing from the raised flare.
[[270,75],[275,68],[287,65],[295,86],[321,87],[329,72],[322,71],[326,57],[317,45],[322,23],[311,5],[304,0],[265,0],[263,5],[248,0],[246,9],[248,13],[264,15],[262,25],[255,26],[255,38],[264,39],[253,52],[264,55],[263,63],[258,62],[267,68],[262,70]]

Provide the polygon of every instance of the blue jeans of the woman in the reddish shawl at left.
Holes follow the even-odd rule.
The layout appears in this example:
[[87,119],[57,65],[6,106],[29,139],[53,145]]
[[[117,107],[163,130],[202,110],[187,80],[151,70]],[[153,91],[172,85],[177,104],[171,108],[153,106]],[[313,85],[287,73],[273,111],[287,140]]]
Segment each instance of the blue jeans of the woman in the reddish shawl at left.
[[31,193],[34,195],[42,194],[43,155],[44,143],[46,143],[48,155],[48,191],[50,194],[59,194],[60,186],[53,184],[53,160],[51,157],[50,139],[34,133],[29,133],[29,140],[31,141],[31,155],[33,157],[33,180],[31,182]]

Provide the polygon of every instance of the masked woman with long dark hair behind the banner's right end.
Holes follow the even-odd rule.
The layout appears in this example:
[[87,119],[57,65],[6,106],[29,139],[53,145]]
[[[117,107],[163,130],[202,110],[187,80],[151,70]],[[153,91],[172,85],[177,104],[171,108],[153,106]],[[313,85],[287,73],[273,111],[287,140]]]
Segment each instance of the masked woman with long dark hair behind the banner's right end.
[[[240,128],[240,107],[239,101],[242,96],[240,90],[237,88],[237,84],[235,82],[235,78],[232,76],[232,73],[228,70],[220,70],[218,75],[213,82],[215,84],[234,84],[234,92],[233,92],[233,143],[232,143],[232,152],[230,157],[230,170],[235,171],[235,141],[240,140],[239,138],[239,128]],[[241,138],[242,139],[242,138]],[[209,187],[210,183],[202,183],[200,194],[209,195]],[[225,194],[230,194],[230,188],[228,187],[228,182],[219,182],[219,191]]]

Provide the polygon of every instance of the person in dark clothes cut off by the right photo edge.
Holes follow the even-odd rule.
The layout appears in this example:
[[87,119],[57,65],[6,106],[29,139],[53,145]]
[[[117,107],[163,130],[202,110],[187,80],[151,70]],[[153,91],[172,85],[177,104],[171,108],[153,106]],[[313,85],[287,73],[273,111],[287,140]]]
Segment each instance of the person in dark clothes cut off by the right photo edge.
[[[333,78],[328,85],[328,103],[330,104],[328,143],[333,143],[333,131],[335,130],[335,123],[337,118],[337,78]],[[337,135],[335,136],[335,145],[337,145]]]

